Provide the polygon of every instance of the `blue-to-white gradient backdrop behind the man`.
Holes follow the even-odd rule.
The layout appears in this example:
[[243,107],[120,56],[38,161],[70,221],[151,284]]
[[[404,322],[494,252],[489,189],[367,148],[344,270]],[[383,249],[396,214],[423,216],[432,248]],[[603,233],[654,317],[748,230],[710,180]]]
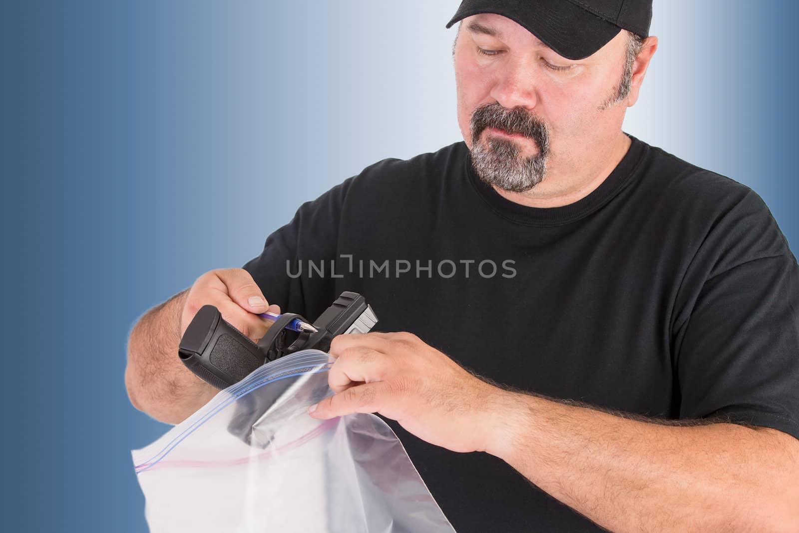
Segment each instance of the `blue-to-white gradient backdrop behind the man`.
[[[129,328],[296,207],[459,141],[455,0],[3,2],[5,531],[145,531]],[[626,130],[761,194],[796,250],[799,2],[656,0]]]

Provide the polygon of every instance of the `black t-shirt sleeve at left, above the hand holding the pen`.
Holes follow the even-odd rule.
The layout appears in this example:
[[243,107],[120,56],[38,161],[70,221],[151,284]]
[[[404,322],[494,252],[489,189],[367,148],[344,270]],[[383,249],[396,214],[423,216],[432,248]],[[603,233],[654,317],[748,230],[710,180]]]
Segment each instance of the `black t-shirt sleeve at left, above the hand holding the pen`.
[[291,222],[269,235],[260,255],[244,265],[270,304],[316,317],[335,299],[336,259],[344,199],[352,178],[297,209]]

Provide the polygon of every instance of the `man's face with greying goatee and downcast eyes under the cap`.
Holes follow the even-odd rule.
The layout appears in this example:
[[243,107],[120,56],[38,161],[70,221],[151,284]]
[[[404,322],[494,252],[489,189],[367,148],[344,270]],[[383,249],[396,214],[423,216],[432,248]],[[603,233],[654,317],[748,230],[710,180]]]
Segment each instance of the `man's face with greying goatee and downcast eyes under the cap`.
[[625,101],[607,104],[626,48],[622,31],[571,61],[509,18],[465,18],[454,50],[458,123],[483,181],[523,192],[546,176],[592,172],[621,131]]

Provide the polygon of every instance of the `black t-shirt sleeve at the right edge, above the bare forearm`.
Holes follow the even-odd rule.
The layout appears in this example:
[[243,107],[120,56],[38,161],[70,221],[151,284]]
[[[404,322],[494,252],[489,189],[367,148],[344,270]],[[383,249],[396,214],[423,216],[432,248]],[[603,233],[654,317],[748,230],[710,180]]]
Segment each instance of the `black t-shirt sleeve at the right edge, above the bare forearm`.
[[714,223],[673,330],[680,418],[721,417],[799,439],[799,266],[749,191]]

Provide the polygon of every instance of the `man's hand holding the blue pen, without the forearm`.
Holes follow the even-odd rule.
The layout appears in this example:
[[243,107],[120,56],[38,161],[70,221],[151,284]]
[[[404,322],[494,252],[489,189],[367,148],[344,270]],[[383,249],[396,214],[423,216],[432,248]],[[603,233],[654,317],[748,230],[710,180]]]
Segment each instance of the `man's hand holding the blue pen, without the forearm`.
[[254,342],[264,336],[271,324],[257,315],[267,311],[280,314],[280,307],[268,304],[243,268],[212,270],[197,278],[183,302],[181,337],[203,305],[215,306],[222,318]]

